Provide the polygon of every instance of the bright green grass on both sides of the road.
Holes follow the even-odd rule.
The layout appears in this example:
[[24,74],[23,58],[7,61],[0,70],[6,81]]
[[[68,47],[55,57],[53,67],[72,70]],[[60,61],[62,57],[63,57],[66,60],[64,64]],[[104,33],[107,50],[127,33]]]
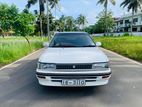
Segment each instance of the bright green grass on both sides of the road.
[[[43,47],[47,38],[28,37],[31,48],[23,37],[0,37],[0,66],[6,65]],[[94,37],[102,47],[142,62],[142,37]]]

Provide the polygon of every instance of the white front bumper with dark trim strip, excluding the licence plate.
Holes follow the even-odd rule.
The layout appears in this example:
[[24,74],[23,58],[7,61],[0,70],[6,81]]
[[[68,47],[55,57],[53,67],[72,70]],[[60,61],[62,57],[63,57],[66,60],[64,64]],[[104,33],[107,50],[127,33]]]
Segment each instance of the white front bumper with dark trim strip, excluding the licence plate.
[[[36,72],[36,77],[40,85],[57,87],[87,87],[106,85],[111,77],[111,70],[106,71],[42,71]],[[63,80],[85,80],[84,86],[63,86]]]

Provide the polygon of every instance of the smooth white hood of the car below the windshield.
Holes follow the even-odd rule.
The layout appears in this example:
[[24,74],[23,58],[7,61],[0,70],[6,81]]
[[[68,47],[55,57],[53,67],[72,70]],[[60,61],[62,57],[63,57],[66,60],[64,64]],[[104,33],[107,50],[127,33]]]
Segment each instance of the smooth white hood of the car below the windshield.
[[43,63],[96,63],[108,62],[107,56],[98,47],[48,48],[39,62]]

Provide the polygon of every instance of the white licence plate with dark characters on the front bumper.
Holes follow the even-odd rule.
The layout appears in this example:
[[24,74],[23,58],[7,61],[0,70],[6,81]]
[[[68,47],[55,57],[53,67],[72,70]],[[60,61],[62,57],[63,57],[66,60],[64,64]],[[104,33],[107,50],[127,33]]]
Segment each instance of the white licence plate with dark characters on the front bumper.
[[62,80],[63,86],[85,86],[85,80]]

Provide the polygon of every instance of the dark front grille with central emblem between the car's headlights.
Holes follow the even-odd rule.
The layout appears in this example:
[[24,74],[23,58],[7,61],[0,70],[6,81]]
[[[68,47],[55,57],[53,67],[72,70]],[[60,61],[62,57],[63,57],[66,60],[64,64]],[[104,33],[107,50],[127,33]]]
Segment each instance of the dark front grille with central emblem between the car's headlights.
[[92,64],[57,64],[56,69],[92,69]]

